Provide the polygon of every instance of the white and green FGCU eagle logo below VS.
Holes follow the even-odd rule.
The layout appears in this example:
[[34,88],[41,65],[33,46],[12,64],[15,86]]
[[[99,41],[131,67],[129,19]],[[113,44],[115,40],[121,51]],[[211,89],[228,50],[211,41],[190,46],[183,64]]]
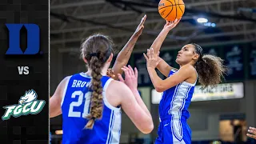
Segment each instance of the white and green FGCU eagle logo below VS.
[[11,115],[17,118],[21,115],[38,114],[41,112],[46,101],[37,100],[38,94],[32,89],[25,92],[19,99],[18,105],[4,106],[6,113],[2,116],[2,120],[7,120]]

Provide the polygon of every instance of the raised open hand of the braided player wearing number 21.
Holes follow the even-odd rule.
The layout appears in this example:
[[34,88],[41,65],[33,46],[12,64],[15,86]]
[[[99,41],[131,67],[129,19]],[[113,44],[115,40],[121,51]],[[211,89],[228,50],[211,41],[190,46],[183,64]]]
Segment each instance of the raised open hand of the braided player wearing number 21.
[[130,90],[137,90],[138,70],[136,69],[136,67],[133,70],[133,68],[129,65],[128,67],[123,66],[121,69],[125,72],[125,79],[122,78],[121,74],[118,74],[119,80],[121,82],[124,82],[126,86],[130,88]]

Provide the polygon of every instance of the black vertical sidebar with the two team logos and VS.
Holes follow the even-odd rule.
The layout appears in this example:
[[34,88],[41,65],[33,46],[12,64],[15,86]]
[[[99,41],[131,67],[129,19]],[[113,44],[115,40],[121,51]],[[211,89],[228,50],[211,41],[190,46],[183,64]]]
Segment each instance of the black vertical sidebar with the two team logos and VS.
[[[0,143],[46,144],[49,142],[49,1],[3,0],[0,6]],[[22,28],[17,30],[18,26]],[[24,96],[28,98],[20,101]],[[10,118],[5,117],[10,107],[4,107],[11,105],[14,110]]]

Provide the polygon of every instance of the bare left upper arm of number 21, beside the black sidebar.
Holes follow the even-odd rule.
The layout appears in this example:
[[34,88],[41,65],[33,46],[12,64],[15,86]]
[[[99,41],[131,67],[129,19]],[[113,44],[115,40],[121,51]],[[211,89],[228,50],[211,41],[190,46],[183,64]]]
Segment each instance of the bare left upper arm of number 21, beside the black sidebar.
[[65,90],[66,82],[70,77],[66,77],[58,84],[57,89],[54,92],[54,95],[50,97],[50,118],[57,117],[58,115],[62,114],[62,96]]

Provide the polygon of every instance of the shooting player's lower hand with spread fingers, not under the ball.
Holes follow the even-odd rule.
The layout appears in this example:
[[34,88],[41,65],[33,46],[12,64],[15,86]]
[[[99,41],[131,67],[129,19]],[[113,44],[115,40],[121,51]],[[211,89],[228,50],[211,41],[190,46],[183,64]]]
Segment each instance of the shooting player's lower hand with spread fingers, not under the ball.
[[146,58],[146,67],[147,68],[153,68],[155,69],[156,66],[158,66],[158,63],[161,61],[161,58],[159,58],[159,51],[158,54],[154,54],[154,49],[150,48],[150,50],[147,50],[147,53],[144,54],[144,57]]

